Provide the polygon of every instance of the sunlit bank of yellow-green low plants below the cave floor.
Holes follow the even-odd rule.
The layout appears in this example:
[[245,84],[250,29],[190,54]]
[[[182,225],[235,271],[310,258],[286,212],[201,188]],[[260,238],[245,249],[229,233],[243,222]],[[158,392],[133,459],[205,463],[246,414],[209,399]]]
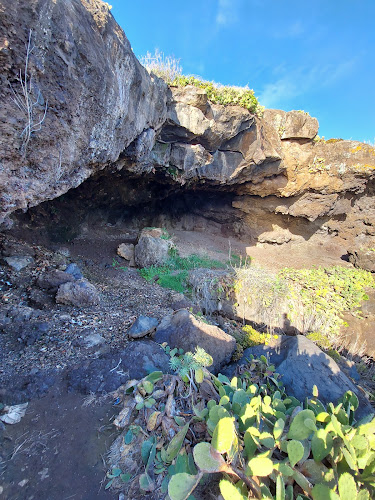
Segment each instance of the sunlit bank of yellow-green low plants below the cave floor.
[[345,326],[344,312],[358,315],[362,301],[368,300],[366,287],[375,288],[371,273],[341,266],[284,268],[277,274],[254,266],[237,269],[232,278],[238,314],[250,307],[254,321],[270,331],[283,327],[284,317],[302,333],[316,332],[330,339]]

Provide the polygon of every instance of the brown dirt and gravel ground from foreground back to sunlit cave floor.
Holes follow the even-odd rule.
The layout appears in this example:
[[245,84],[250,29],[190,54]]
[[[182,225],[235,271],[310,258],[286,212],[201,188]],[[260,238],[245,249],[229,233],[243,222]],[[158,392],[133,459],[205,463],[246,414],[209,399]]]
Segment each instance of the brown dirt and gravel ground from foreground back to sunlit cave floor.
[[[227,261],[230,254],[243,259],[248,255],[252,264],[274,270],[349,265],[341,259],[340,244],[335,242],[325,247],[287,244],[262,248],[202,232],[175,231],[172,236],[182,256],[198,253]],[[128,342],[127,329],[139,315],[160,320],[172,312],[174,292],[147,283],[135,270],[124,271],[121,263],[114,263],[114,259],[121,260],[116,256],[118,245],[135,238],[134,231],[108,228],[71,243],[52,245],[30,234],[26,239],[35,248],[34,264],[19,272],[1,266],[3,308],[29,307],[28,294],[36,276],[51,266],[65,268],[69,262],[78,264],[102,300],[84,310],[54,302],[38,309],[37,320],[48,323],[48,332],[30,345],[20,341],[17,330],[0,334],[0,401],[29,402],[20,423],[0,426],[0,499],[118,498],[104,490],[106,454],[117,436],[111,424],[117,414],[113,400],[107,397],[87,405],[87,394],[68,391],[66,374],[123,348]],[[85,346],[83,340],[89,333],[98,334],[103,341]],[[40,370],[39,382],[28,383],[27,377]]]

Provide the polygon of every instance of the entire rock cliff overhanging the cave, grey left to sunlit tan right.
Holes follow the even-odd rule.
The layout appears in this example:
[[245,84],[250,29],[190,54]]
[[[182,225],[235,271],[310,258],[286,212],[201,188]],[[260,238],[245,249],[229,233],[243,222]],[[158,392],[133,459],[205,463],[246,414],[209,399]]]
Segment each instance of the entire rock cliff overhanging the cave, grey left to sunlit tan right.
[[[259,242],[338,235],[349,248],[375,236],[371,146],[316,140],[318,121],[301,111],[260,118],[203,89],[167,87],[100,0],[0,0],[0,11],[2,220],[100,171],[124,205],[151,197],[145,182],[152,197],[230,193],[237,233]],[[28,97],[31,118],[15,102]]]

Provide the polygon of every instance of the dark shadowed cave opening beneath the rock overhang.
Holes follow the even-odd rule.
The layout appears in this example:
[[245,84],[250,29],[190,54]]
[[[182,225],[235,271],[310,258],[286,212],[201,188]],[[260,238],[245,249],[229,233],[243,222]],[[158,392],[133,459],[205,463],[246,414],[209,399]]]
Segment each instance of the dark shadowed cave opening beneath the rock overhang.
[[92,257],[102,258],[105,249],[115,255],[118,244],[135,243],[144,227],[239,240],[245,231],[234,197],[217,187],[181,187],[155,175],[102,172],[58,198],[15,212],[10,232],[52,250],[86,245]]

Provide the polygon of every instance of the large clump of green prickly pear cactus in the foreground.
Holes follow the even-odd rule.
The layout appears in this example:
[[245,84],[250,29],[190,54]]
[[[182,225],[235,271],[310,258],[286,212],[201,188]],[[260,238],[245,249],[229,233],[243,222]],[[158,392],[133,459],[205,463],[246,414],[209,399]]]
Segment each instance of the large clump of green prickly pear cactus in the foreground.
[[[182,379],[154,372],[125,387],[137,402],[139,425],[150,432],[142,445],[141,490],[153,491],[152,478],[161,475],[161,494],[186,500],[203,476],[221,473],[224,500],[374,498],[375,419],[355,421],[354,393],[345,393],[336,406],[324,406],[314,387],[313,396],[300,402],[286,394],[264,356],[250,359],[230,380],[210,374],[207,363],[197,363],[191,353],[192,364],[182,373],[181,352],[170,354]],[[177,424],[172,439],[158,424],[171,415]],[[121,464],[116,467],[116,474],[122,472]]]

